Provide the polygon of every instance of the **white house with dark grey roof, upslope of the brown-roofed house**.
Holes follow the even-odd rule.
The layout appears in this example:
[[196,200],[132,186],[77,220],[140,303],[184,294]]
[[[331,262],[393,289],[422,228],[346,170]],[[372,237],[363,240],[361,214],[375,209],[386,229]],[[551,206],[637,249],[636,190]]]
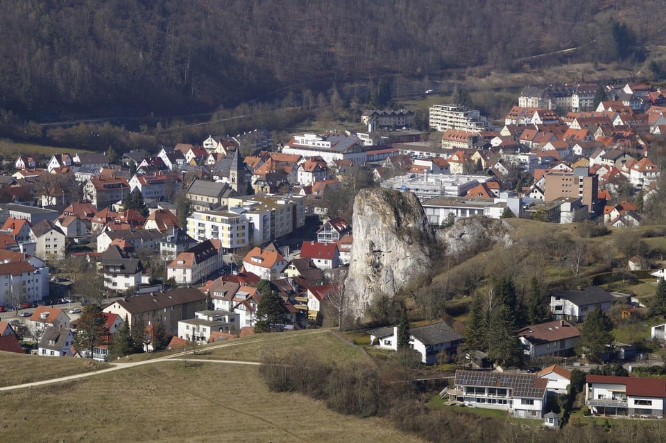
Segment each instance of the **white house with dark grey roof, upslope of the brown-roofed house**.
[[558,320],[582,322],[596,308],[608,311],[615,297],[597,286],[562,290],[550,295],[550,311]]

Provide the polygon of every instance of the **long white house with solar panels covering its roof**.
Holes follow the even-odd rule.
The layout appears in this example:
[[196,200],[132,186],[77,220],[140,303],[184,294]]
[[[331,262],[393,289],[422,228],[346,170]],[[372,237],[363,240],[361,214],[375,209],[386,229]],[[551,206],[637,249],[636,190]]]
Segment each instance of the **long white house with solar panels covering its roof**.
[[456,401],[476,408],[502,409],[514,417],[541,418],[546,406],[547,379],[536,374],[456,370]]

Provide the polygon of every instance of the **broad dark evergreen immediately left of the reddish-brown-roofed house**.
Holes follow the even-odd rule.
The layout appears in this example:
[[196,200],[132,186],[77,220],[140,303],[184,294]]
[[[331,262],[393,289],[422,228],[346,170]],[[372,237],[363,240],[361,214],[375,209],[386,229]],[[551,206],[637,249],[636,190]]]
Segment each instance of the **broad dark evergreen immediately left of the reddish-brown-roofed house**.
[[518,365],[522,346],[515,335],[513,315],[506,305],[500,304],[490,313],[488,331],[492,331],[488,333],[488,356],[500,365]]

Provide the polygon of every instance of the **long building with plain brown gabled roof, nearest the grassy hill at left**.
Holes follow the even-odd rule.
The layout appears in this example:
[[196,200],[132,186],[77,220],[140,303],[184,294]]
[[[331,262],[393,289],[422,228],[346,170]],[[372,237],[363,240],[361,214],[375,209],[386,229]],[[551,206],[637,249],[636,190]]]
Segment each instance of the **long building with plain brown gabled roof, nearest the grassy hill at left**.
[[167,333],[178,333],[178,322],[194,318],[196,311],[206,308],[206,295],[196,288],[182,287],[167,292],[137,295],[116,300],[104,312],[127,318],[130,328],[141,317],[146,327],[164,323]]

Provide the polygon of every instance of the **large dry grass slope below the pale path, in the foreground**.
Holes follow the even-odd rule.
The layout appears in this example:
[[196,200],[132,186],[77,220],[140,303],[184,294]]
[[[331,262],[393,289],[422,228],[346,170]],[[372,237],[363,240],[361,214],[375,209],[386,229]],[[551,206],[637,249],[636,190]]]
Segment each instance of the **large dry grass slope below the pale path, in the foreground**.
[[383,419],[268,392],[256,367],[220,363],[157,363],[0,400],[0,441],[418,441]]

